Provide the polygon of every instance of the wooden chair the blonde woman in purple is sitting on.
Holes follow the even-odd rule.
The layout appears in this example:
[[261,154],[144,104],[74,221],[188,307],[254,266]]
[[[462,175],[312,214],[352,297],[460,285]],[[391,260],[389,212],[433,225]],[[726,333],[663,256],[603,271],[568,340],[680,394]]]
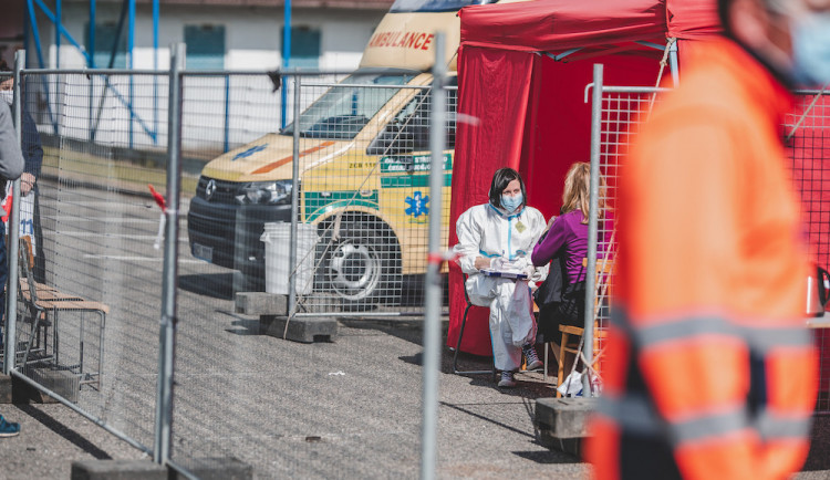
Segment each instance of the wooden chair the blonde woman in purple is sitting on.
[[[582,267],[588,267],[588,259],[582,259]],[[599,311],[601,305],[601,301],[603,298],[606,298],[610,286],[610,278],[613,274],[614,271],[614,261],[612,259],[598,259],[596,260],[596,282],[594,283],[594,291],[596,294],[594,295],[594,304],[593,304],[593,316],[594,321],[596,320],[599,315]],[[572,325],[559,325],[559,331],[562,333],[562,343],[559,346],[559,368],[557,373],[557,388],[562,385],[564,382],[564,365],[567,363],[567,355],[570,355],[573,357],[573,362],[579,362],[579,358],[577,355],[579,355],[579,342],[584,333],[583,327],[579,326],[572,326]],[[601,352],[601,345],[604,343],[604,340],[608,335],[608,332],[600,327],[600,325],[594,324],[593,330],[593,369],[599,371],[600,369],[600,355],[598,355],[598,352]],[[547,373],[548,365],[547,365],[547,346],[546,346],[546,365],[544,371]],[[584,345],[583,345],[584,348]],[[557,389],[557,397],[561,397],[562,394]]]

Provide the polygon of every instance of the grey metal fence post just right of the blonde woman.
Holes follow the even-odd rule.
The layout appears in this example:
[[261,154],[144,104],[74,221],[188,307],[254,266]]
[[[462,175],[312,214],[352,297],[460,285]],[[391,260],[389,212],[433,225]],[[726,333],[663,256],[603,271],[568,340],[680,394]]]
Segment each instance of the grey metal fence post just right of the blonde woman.
[[593,365],[593,316],[596,298],[596,232],[600,208],[600,135],[602,119],[602,64],[593,65],[593,92],[591,104],[591,205],[588,207],[588,273],[585,274],[585,330],[582,334],[582,353],[585,357],[585,375],[582,376],[582,395],[592,397],[591,374]]

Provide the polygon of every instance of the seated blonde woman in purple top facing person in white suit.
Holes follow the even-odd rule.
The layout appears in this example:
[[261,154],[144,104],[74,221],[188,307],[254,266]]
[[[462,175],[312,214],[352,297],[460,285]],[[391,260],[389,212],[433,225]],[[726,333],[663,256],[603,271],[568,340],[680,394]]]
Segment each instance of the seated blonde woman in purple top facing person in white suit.
[[[546,342],[556,343],[553,353],[557,356],[562,341],[559,325],[582,326],[584,322],[585,268],[582,259],[588,257],[590,191],[591,165],[582,161],[573,164],[564,179],[561,213],[550,219],[548,231],[531,254],[537,267],[547,265],[551,260],[561,262],[561,301],[542,305],[539,312],[539,332]],[[600,218],[604,217],[602,205],[599,213]]]

